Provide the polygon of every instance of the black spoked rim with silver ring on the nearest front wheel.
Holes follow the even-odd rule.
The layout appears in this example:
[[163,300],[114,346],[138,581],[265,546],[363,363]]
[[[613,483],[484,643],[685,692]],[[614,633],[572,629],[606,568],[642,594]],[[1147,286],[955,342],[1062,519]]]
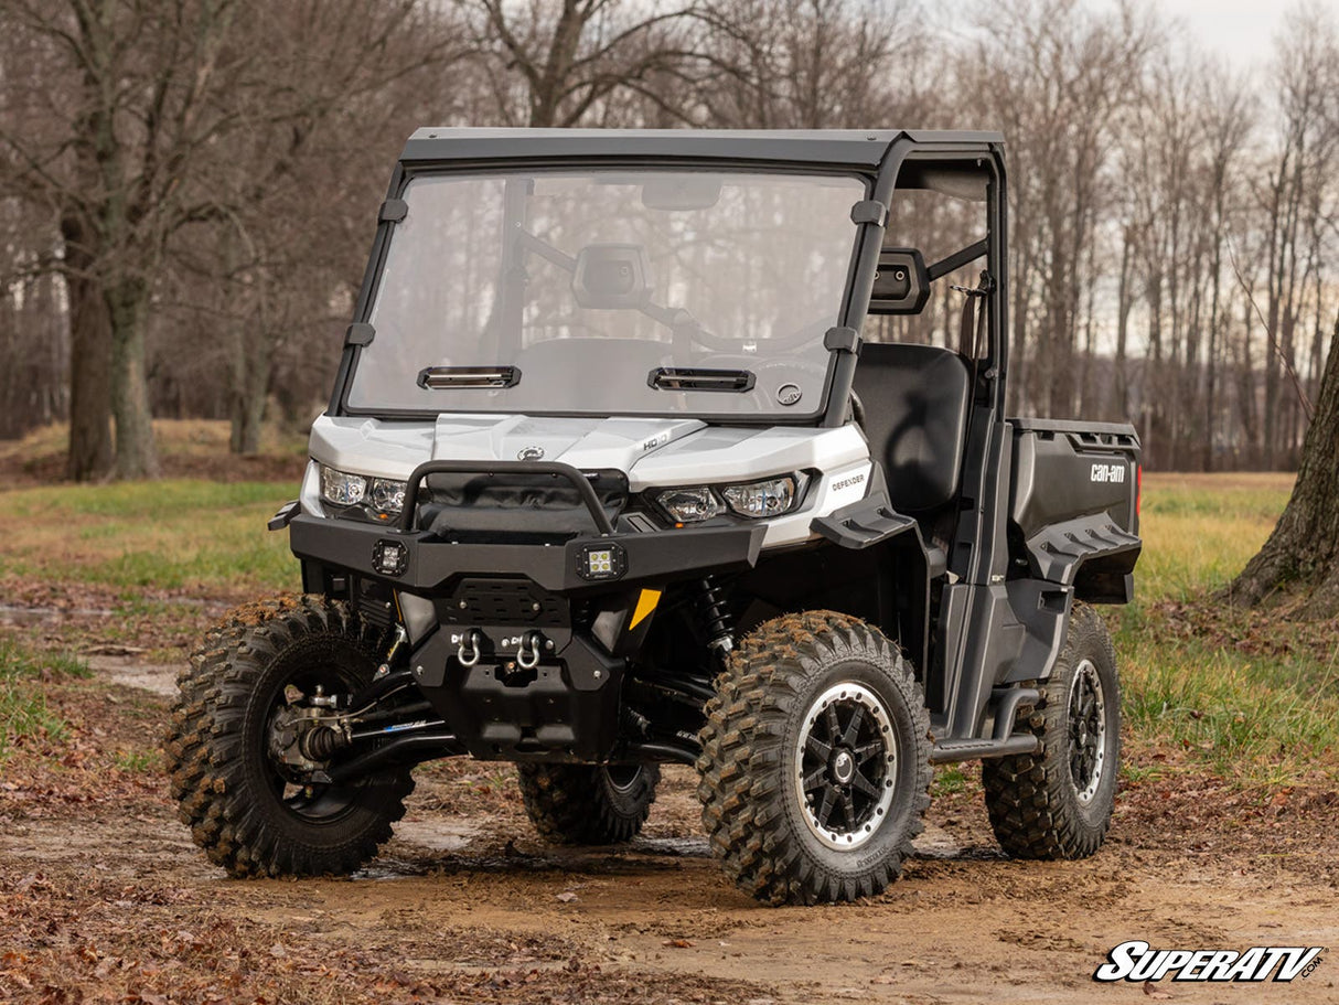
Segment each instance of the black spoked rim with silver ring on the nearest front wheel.
[[838,683],[805,713],[795,745],[795,792],[809,831],[829,848],[858,848],[888,819],[897,738],[882,699]]

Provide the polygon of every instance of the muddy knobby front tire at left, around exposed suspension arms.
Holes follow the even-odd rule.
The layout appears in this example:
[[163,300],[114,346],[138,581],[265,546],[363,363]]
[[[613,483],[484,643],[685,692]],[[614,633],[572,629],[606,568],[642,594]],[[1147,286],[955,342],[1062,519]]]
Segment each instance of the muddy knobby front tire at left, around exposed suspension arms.
[[414,788],[408,768],[288,797],[268,753],[285,689],[366,683],[375,643],[344,604],[320,596],[249,604],[206,635],[178,678],[165,750],[178,816],[210,862],[238,878],[343,874],[391,836]]

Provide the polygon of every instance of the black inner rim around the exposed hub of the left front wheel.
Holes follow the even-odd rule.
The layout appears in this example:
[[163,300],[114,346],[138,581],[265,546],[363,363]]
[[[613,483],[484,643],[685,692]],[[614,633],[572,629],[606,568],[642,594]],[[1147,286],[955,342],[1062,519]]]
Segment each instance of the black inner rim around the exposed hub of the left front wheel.
[[358,791],[349,785],[311,783],[281,760],[272,744],[276,725],[287,713],[312,706],[317,695],[347,695],[360,678],[351,669],[315,662],[295,666],[277,683],[265,717],[265,775],[280,805],[308,824],[333,824],[353,811]]

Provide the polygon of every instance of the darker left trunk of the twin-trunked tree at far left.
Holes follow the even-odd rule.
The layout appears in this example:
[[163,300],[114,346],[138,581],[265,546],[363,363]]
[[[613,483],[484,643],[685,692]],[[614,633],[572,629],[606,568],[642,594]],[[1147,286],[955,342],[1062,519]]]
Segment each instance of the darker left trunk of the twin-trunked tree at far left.
[[60,221],[66,240],[66,291],[70,297],[70,453],[66,472],[74,481],[111,473],[111,336],[107,306],[83,245],[83,225]]

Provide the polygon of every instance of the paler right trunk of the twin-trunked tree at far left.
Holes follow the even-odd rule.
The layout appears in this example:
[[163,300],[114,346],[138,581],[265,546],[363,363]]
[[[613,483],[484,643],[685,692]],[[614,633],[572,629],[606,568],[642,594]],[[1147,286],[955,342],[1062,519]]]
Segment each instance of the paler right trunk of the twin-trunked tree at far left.
[[158,452],[154,448],[153,415],[149,407],[149,379],[145,370],[145,304],[149,289],[143,281],[127,279],[107,291],[111,318],[111,414],[116,421],[118,478],[157,478]]

